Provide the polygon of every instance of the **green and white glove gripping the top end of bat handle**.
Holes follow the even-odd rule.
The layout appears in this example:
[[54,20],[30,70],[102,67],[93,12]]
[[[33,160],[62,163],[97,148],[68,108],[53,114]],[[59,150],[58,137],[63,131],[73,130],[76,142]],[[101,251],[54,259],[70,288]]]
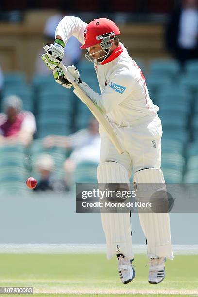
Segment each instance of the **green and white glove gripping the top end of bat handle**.
[[51,70],[61,62],[64,56],[65,43],[61,39],[56,39],[54,44],[50,44],[49,49],[42,55],[41,59]]

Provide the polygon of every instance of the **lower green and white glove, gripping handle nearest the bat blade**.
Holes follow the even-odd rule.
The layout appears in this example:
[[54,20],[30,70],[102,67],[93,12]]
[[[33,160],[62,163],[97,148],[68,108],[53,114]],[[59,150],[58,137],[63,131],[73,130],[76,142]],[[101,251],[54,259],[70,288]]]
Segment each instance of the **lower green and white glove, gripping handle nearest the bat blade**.
[[[71,65],[67,67],[68,71],[74,77],[75,82],[81,83],[82,80],[80,79],[80,73],[76,66]],[[57,83],[61,84],[64,88],[70,89],[72,87],[72,83],[67,80],[63,73],[63,69],[59,68],[58,66],[53,70],[53,76]]]

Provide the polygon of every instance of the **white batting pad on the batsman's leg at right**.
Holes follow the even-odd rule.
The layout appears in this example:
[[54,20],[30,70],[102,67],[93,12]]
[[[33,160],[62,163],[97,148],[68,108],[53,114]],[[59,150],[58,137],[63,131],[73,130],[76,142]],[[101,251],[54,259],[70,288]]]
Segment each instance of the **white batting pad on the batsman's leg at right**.
[[[143,169],[136,172],[133,182],[137,183],[136,197],[141,200],[145,199],[146,193],[150,198],[156,191],[166,189],[163,172],[157,168]],[[144,185],[141,186],[141,184]],[[139,212],[139,218],[142,230],[147,238],[148,257],[164,256],[173,259],[169,213]]]

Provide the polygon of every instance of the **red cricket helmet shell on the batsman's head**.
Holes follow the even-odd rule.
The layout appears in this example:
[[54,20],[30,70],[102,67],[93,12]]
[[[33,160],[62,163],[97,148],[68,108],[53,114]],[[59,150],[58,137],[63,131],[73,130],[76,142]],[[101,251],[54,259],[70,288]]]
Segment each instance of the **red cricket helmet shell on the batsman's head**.
[[98,18],[91,21],[84,30],[85,43],[81,49],[86,49],[94,44],[101,43],[104,37],[113,38],[119,35],[120,31],[117,25],[108,18]]

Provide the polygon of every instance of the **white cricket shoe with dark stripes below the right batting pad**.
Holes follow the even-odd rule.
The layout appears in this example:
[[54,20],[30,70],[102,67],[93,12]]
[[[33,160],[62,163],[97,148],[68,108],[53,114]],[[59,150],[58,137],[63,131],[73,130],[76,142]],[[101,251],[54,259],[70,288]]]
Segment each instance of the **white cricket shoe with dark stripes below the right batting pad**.
[[148,282],[158,284],[165,278],[165,257],[151,258],[149,263]]

